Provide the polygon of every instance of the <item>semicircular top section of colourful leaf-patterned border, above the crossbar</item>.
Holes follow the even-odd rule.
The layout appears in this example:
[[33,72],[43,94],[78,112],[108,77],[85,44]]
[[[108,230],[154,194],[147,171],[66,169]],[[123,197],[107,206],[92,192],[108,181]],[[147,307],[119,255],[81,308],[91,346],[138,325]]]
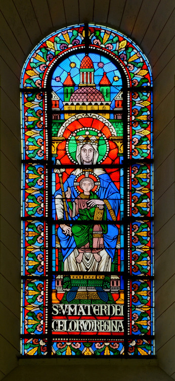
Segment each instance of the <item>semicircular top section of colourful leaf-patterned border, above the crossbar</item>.
[[[33,49],[24,64],[21,88],[45,87],[48,68],[52,68],[55,59],[62,58],[66,53],[75,53],[79,48],[84,48],[84,37],[85,28],[81,24],[57,30],[43,39]],[[106,26],[89,24],[89,45],[90,48],[110,54],[111,57],[118,60],[122,69],[125,69],[127,73],[128,86],[131,85],[131,81],[135,87],[143,84],[152,86],[151,69],[144,53],[125,35]]]

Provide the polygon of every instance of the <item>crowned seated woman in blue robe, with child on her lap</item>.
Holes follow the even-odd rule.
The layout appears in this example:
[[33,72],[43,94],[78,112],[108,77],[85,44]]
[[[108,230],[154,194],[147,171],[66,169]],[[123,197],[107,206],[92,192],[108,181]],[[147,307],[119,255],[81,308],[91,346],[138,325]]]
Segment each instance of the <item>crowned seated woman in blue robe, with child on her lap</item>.
[[[70,223],[60,224],[57,230],[64,271],[110,271],[118,237],[115,221],[120,194],[103,168],[89,168],[98,162],[101,134],[86,131],[85,135],[74,135],[76,161],[82,169],[75,169],[64,182]],[[58,220],[66,219],[64,201],[60,188],[55,193]]]

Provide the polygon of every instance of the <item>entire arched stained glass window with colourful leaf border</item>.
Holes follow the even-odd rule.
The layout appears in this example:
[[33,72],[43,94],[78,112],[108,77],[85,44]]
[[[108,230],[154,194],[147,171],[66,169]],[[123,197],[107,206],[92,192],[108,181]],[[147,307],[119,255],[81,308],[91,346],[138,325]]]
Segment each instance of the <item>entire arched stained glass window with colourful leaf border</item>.
[[152,356],[145,55],[107,27],[59,30],[26,60],[21,105],[22,355]]

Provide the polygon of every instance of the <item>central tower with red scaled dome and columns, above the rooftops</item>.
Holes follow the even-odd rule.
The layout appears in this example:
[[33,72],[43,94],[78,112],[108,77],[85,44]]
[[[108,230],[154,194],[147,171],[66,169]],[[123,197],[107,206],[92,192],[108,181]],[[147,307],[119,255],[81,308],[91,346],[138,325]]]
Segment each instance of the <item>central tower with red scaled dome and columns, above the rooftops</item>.
[[96,87],[94,83],[94,65],[89,55],[86,54],[85,57],[82,59],[79,72],[80,72],[79,86]]

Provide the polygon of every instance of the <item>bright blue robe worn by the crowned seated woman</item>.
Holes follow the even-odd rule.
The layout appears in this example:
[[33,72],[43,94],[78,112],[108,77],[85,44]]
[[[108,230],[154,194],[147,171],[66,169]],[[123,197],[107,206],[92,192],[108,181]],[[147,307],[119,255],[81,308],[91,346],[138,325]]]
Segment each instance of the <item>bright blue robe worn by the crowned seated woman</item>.
[[[71,201],[72,202],[78,196],[78,193],[76,192],[74,185],[73,185],[75,177],[76,177],[75,175],[71,174],[64,183],[65,192],[66,192],[68,186],[71,189]],[[119,209],[119,205],[120,205],[119,191],[107,173],[103,173],[103,174],[99,175],[98,177],[100,179],[100,188],[97,191],[96,195],[98,196],[98,198],[100,200],[107,200],[110,203],[111,208],[113,209],[115,216],[117,217],[118,209]],[[57,195],[62,195],[61,189],[59,189],[55,192],[55,197]],[[66,201],[66,203],[67,203],[67,201]],[[106,208],[106,211],[107,211],[107,220],[112,221],[112,217],[111,217],[109,210],[106,207],[106,205],[104,205],[104,208]],[[68,203],[67,203],[67,210],[68,210],[68,214],[69,214]],[[76,220],[78,218],[78,216],[79,215],[71,218],[69,215],[69,219],[70,220],[72,220],[72,219]],[[64,212],[64,219],[66,219],[65,212]],[[115,221],[114,221],[114,224],[115,224]],[[71,224],[69,224],[69,225],[71,226]],[[65,259],[71,254],[73,249],[76,247],[75,240],[74,240],[73,236],[69,236],[69,235],[66,236],[62,232],[62,229],[60,227],[58,228],[57,234],[58,234],[58,239],[60,241],[60,245],[62,248],[63,261],[65,261]],[[117,227],[115,225],[108,225],[108,231],[106,234],[103,234],[103,238],[104,238],[105,249],[106,249],[107,253],[109,254],[109,256],[111,257],[112,261],[114,259],[114,255],[115,255],[117,237],[118,237]]]

